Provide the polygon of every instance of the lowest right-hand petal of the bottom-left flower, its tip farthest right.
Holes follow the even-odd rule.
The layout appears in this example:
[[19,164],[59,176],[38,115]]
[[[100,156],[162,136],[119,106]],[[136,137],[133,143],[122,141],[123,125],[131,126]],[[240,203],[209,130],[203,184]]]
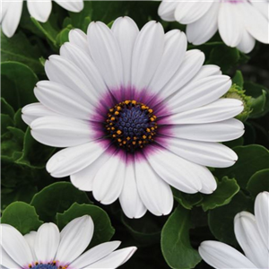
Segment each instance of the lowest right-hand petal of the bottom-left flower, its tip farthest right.
[[116,250],[109,254],[108,256],[100,259],[100,261],[87,266],[87,268],[100,268],[100,269],[114,269],[120,265],[126,263],[126,261],[134,255],[135,250],[137,247],[126,247],[123,249]]

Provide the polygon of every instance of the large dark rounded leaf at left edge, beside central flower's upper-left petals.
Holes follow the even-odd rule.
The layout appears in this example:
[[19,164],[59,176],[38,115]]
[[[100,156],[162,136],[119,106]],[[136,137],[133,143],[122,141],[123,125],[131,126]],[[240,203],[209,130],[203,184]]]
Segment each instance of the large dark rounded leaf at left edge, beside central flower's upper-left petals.
[[13,108],[36,102],[33,88],[38,77],[27,66],[18,62],[0,63],[1,94]]

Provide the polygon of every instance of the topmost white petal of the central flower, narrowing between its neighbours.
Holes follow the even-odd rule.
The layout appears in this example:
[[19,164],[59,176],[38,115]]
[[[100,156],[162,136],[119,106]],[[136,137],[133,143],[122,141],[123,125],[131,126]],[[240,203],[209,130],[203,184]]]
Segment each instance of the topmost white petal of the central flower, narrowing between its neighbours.
[[131,83],[131,66],[134,42],[139,32],[136,23],[129,17],[120,17],[113,23],[111,30],[117,39],[123,65],[123,82],[127,87]]

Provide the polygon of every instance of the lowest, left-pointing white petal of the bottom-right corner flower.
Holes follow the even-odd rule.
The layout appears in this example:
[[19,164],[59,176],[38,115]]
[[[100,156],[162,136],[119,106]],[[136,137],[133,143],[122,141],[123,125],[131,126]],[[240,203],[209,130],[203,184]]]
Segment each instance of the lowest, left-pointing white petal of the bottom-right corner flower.
[[218,269],[258,268],[246,256],[229,245],[217,241],[204,241],[199,247],[199,254],[204,261]]

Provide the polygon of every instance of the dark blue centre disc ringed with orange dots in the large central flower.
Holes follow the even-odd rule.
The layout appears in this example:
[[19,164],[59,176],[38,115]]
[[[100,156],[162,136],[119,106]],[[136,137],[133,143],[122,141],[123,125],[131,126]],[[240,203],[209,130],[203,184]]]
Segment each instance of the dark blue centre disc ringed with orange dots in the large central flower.
[[110,108],[106,132],[113,143],[127,152],[142,149],[153,141],[157,130],[153,110],[136,100],[125,100]]

